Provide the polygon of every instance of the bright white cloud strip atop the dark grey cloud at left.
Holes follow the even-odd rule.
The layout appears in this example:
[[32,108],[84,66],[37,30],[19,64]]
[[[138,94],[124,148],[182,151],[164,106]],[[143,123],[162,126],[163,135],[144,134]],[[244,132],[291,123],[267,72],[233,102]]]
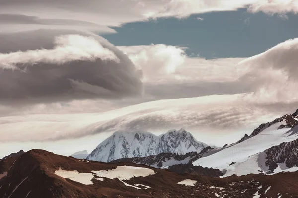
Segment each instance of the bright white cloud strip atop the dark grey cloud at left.
[[[94,37],[82,35],[61,35],[55,37],[54,49],[36,49],[0,53],[0,67],[19,69],[16,65],[50,63],[62,65],[71,61],[114,60],[118,57],[110,49],[104,48]],[[41,66],[42,67],[42,66]]]

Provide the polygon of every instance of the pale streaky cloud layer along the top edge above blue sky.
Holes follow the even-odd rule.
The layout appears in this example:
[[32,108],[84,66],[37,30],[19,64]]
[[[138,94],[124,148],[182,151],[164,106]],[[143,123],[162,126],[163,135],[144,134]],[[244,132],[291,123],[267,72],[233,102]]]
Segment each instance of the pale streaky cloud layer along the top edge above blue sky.
[[246,7],[253,13],[283,16],[298,10],[296,0],[0,0],[0,32],[48,28],[112,33],[110,27],[150,18],[185,18]]

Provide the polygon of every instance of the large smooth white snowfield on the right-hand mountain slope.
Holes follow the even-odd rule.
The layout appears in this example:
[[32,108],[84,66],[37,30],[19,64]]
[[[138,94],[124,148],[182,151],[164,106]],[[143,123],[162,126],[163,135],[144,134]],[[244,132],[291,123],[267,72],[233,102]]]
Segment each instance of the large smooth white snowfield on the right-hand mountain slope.
[[[265,153],[262,153],[264,150],[297,138],[295,135],[289,136],[286,133],[289,131],[287,128],[277,129],[281,124],[286,124],[286,122],[273,124],[254,137],[196,160],[193,165],[218,168],[224,172],[226,170],[223,177],[233,174],[238,176],[250,173],[258,174],[260,173],[258,170],[266,170],[264,167]],[[236,164],[229,166],[231,162],[236,162]]]

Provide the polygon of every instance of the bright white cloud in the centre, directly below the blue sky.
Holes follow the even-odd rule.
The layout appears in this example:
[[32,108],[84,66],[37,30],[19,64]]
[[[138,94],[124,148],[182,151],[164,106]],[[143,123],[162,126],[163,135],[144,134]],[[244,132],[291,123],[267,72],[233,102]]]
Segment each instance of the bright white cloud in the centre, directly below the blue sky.
[[191,58],[185,48],[164,44],[118,48],[143,70],[145,82],[155,84],[235,81],[247,71],[245,65],[238,66],[245,58]]

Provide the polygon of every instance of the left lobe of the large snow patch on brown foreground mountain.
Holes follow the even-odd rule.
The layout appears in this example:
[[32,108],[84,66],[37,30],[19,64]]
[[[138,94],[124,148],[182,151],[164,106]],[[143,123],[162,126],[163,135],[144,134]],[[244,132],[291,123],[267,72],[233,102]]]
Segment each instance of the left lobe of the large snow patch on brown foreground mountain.
[[91,181],[91,179],[94,178],[92,173],[78,173],[78,171],[73,170],[73,171],[69,171],[69,170],[62,170],[61,168],[59,168],[59,170],[55,171],[55,174],[63,177],[63,178],[69,178],[70,180],[82,183],[82,184],[93,184],[93,182]]

